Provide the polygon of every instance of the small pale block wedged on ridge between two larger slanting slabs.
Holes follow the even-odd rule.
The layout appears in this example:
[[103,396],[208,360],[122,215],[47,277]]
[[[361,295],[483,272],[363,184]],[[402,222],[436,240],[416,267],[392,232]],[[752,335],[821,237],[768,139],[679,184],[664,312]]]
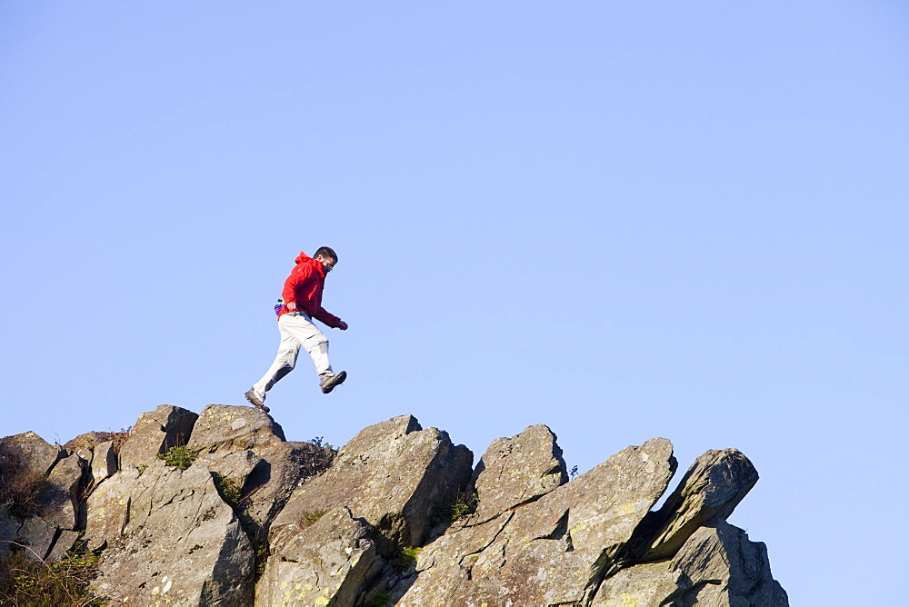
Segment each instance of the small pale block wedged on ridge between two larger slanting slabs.
[[532,502],[568,482],[555,434],[540,424],[493,441],[474,472],[476,522]]

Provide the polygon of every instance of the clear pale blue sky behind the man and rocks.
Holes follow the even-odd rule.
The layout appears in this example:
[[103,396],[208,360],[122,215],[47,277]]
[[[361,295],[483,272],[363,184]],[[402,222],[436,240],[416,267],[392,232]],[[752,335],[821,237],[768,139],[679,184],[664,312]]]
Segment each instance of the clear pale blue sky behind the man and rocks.
[[327,244],[289,439],[737,447],[792,604],[894,605],[907,175],[904,2],[4,2],[0,434],[245,404]]

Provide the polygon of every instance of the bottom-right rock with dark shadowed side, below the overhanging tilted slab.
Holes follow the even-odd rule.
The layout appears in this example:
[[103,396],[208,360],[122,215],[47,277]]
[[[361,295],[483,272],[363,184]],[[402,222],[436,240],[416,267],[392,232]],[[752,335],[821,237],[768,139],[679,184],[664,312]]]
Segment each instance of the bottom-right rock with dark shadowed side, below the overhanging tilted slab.
[[695,531],[671,561],[634,565],[600,586],[596,607],[787,607],[763,542],[718,521]]

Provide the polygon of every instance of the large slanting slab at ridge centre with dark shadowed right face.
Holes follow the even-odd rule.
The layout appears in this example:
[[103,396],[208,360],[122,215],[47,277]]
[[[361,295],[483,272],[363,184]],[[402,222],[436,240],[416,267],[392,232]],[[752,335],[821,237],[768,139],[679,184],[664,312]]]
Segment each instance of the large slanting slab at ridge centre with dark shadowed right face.
[[325,474],[298,487],[272,526],[273,545],[298,532],[306,512],[347,506],[391,542],[420,545],[439,504],[472,473],[473,453],[448,433],[423,430],[412,415],[377,423],[345,444]]

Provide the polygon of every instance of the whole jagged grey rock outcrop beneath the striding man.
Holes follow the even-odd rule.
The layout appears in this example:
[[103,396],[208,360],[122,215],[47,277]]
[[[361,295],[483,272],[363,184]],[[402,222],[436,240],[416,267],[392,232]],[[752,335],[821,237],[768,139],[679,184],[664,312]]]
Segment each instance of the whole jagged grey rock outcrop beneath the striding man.
[[676,471],[630,446],[569,481],[544,425],[474,456],[411,415],[340,451],[255,408],[169,405],[64,447],[0,439],[0,558],[100,555],[94,591],[158,605],[787,605],[726,518],[757,472],[734,449]]

